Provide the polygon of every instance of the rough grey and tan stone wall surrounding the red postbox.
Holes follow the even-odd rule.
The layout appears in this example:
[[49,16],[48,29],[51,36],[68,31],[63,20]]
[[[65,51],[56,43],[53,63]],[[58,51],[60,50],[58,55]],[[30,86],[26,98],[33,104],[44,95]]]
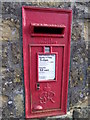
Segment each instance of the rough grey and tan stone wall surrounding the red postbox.
[[[20,0],[21,1],[21,0]],[[30,0],[29,0],[30,1]],[[0,116],[24,119],[22,5],[73,10],[68,112],[59,118],[90,118],[90,2],[0,2]]]

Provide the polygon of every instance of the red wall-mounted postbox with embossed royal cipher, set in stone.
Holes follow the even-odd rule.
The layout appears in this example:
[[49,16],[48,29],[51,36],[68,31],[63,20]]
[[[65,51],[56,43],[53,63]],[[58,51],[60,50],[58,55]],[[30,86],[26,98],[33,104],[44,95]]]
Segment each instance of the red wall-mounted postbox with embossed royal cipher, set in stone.
[[22,7],[26,118],[66,114],[71,14]]

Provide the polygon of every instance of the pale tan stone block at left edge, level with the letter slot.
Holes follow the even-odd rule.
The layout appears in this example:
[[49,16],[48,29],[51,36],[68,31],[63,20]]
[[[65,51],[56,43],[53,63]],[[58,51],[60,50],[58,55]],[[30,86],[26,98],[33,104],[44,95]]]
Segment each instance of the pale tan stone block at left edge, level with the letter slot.
[[17,40],[19,39],[20,25],[13,19],[0,22],[0,40]]

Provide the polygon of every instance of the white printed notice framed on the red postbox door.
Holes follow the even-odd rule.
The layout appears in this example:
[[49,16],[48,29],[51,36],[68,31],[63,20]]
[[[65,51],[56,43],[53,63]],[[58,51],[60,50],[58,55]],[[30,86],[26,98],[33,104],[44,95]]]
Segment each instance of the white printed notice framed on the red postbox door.
[[39,81],[55,80],[55,54],[39,55]]

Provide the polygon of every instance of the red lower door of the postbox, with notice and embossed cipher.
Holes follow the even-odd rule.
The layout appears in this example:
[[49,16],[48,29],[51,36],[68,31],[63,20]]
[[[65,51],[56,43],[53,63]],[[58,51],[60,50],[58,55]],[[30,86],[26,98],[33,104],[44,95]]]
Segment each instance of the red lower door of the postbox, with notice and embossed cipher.
[[61,109],[63,45],[29,45],[30,109],[44,112]]

